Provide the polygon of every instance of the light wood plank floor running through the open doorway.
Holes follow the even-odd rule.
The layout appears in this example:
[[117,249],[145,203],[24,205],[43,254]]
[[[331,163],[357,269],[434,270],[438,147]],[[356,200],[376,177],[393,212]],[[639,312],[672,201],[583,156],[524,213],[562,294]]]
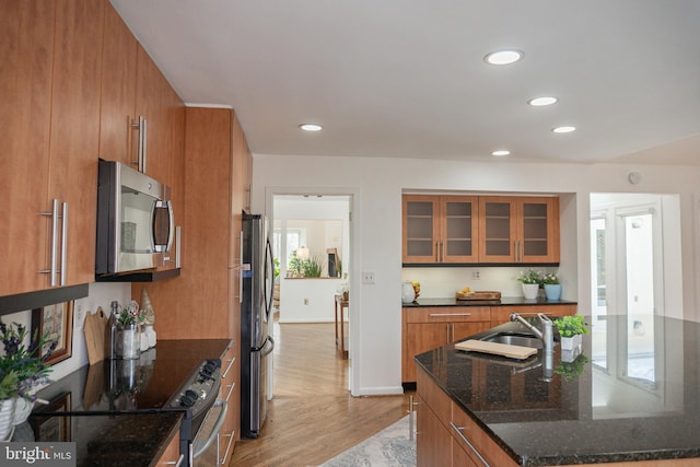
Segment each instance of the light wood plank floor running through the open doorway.
[[275,325],[275,397],[257,440],[230,466],[317,466],[408,413],[408,394],[352,397],[334,324]]

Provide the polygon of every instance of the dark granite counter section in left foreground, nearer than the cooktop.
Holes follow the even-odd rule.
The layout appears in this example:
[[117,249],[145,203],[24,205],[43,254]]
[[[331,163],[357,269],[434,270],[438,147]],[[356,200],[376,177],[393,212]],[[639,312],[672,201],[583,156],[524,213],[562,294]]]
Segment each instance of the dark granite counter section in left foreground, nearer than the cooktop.
[[12,441],[73,442],[78,467],[147,467],[163,455],[182,418],[182,412],[34,413],[15,428]]

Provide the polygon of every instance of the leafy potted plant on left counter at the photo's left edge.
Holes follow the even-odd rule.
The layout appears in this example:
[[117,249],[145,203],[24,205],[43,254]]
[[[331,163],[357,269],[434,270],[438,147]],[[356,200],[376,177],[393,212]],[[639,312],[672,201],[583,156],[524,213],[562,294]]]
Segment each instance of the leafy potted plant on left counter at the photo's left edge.
[[[0,339],[4,354],[0,357],[0,441],[7,441],[18,420],[15,407],[22,404],[22,413],[28,416],[26,404],[34,405],[36,400],[35,387],[48,383],[51,369],[46,364],[56,348],[56,340],[48,336],[34,339],[25,347],[24,340],[28,334],[26,326],[13,323],[8,326],[0,320]],[[48,351],[42,357],[40,352],[49,345]]]

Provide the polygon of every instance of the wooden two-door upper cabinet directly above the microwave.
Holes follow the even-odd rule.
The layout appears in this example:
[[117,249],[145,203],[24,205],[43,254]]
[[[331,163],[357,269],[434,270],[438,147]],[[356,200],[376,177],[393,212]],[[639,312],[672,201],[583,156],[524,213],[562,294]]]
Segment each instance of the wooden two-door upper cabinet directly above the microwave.
[[184,104],[106,2],[100,156],[172,187],[184,138]]

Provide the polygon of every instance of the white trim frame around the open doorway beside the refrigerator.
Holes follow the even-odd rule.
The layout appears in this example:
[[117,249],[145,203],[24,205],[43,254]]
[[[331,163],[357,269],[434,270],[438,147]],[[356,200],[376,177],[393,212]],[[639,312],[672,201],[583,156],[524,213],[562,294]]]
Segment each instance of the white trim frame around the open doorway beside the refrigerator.
[[350,349],[348,358],[350,359],[348,383],[350,394],[359,395],[360,388],[360,369],[363,364],[362,359],[362,340],[360,339],[360,323],[362,314],[362,290],[359,287],[361,271],[360,247],[357,241],[360,238],[362,219],[360,214],[360,189],[357,187],[298,187],[298,186],[268,186],[265,188],[265,215],[270,224],[275,222],[275,197],[276,196],[347,196],[349,198],[349,235],[348,244],[350,247],[351,270],[348,273],[348,289],[350,291],[350,301],[348,306],[349,315],[349,335]]

